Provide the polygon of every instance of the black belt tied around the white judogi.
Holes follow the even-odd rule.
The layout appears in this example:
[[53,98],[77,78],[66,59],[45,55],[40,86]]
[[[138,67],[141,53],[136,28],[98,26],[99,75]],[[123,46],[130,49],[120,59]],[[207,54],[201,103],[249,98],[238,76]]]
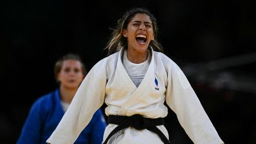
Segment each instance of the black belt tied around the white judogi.
[[156,133],[164,142],[165,144],[170,143],[167,137],[165,137],[164,133],[161,132],[156,126],[160,126],[164,124],[164,119],[163,118],[158,118],[158,119],[149,119],[140,116],[139,114],[135,114],[133,116],[114,116],[110,115],[108,117],[108,123],[111,124],[118,124],[117,126],[105,139],[103,144],[106,144],[108,140],[110,139],[111,136],[113,136],[115,133],[119,132],[119,130],[126,129],[129,126],[134,127],[137,130],[142,130],[142,129],[148,129],[151,132]]

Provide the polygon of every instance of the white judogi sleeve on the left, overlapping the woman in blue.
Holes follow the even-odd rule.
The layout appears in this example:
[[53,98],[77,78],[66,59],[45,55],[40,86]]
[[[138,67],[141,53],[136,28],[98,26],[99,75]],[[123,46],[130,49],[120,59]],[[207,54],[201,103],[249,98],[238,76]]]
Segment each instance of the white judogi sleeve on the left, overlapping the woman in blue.
[[95,111],[104,103],[106,72],[103,60],[89,71],[78,88],[71,105],[47,143],[74,143]]

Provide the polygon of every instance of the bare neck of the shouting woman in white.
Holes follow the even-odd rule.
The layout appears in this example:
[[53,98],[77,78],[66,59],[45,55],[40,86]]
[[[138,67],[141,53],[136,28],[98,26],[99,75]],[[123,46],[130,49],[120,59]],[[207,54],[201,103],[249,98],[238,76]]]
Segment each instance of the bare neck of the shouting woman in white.
[[142,63],[148,59],[148,50],[143,53],[127,49],[127,58],[132,63]]

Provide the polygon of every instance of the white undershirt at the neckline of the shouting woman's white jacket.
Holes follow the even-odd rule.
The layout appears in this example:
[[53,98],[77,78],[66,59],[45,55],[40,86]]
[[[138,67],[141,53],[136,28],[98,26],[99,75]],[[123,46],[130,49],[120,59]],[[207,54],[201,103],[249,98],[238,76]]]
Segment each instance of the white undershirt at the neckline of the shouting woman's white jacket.
[[132,79],[133,83],[136,87],[139,87],[140,82],[142,82],[146,72],[148,71],[149,63],[150,63],[150,55],[145,62],[142,63],[132,63],[127,58],[127,52],[124,50],[123,54],[123,66],[126,69],[130,79]]

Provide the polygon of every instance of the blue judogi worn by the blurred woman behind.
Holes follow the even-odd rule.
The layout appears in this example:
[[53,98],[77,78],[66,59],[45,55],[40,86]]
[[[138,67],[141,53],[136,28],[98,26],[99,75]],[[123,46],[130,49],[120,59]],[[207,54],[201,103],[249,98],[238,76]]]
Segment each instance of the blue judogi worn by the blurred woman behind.
[[[59,89],[43,95],[31,107],[17,144],[46,143],[63,115]],[[75,143],[100,144],[106,125],[103,113],[97,110]]]

